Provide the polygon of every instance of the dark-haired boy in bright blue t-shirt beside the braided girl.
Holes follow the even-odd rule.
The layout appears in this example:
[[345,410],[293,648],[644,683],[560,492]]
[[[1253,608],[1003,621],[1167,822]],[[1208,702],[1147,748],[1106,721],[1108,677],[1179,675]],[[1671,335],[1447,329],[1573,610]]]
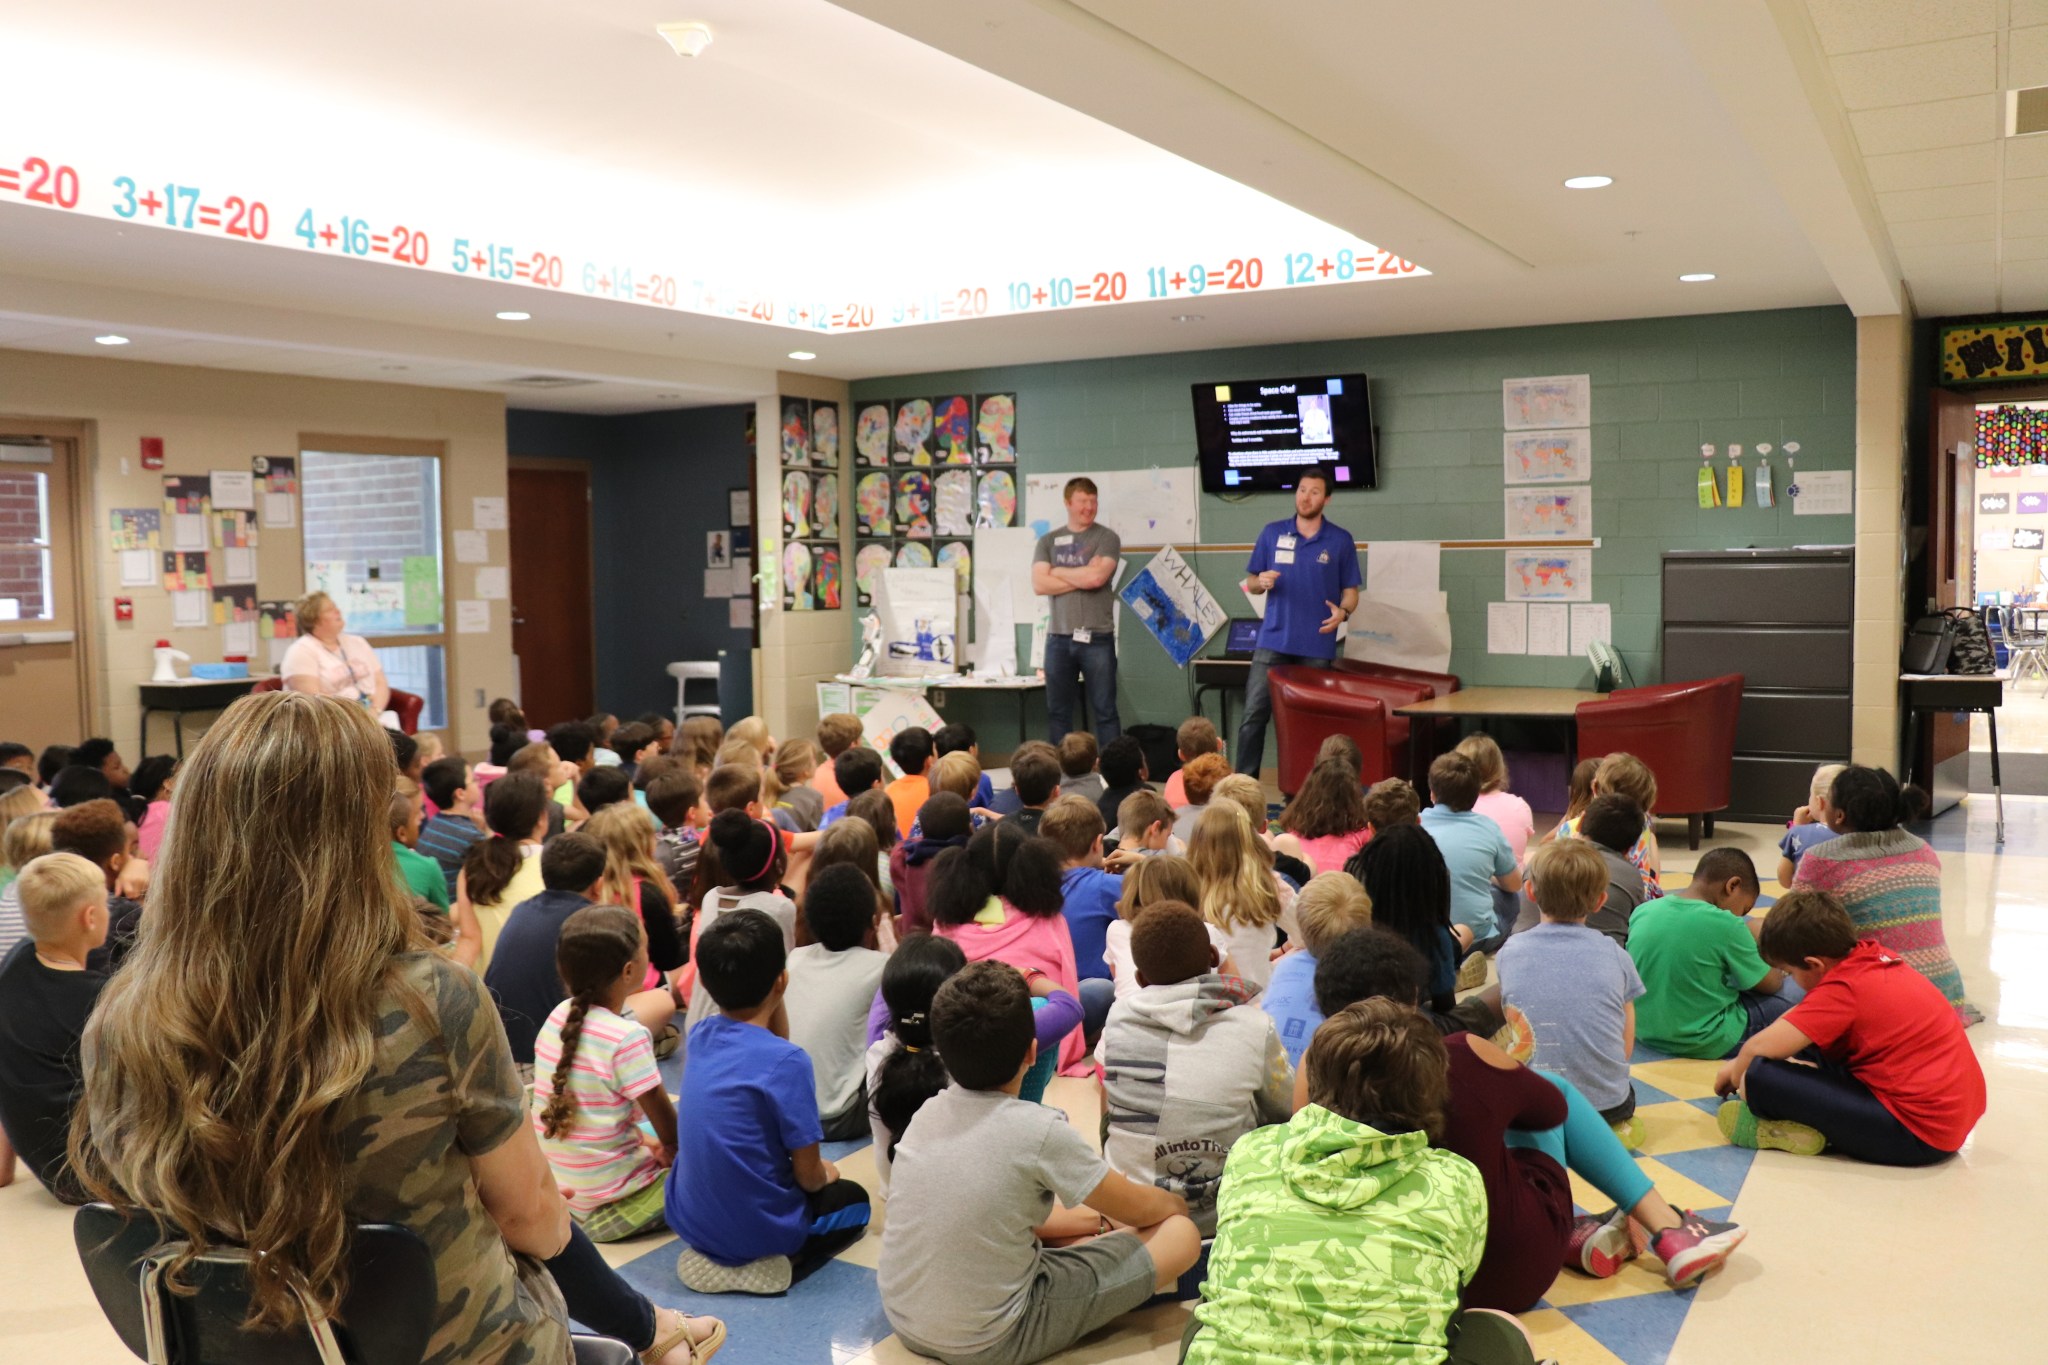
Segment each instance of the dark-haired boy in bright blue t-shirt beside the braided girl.
[[782,1038],[782,943],[752,909],[696,943],[696,984],[719,1013],[690,1029],[668,1226],[684,1240],[676,1279],[698,1293],[782,1293],[868,1228],[868,1193],[817,1150],[811,1058]]

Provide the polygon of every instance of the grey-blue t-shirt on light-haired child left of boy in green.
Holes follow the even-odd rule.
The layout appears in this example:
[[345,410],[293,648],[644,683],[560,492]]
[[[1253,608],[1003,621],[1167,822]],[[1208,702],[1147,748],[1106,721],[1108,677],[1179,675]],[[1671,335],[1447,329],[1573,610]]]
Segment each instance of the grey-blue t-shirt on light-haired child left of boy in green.
[[1536,925],[1501,943],[1501,1003],[1528,1015],[1536,1070],[1565,1076],[1595,1109],[1628,1099],[1626,1007],[1642,995],[1628,950],[1585,925]]

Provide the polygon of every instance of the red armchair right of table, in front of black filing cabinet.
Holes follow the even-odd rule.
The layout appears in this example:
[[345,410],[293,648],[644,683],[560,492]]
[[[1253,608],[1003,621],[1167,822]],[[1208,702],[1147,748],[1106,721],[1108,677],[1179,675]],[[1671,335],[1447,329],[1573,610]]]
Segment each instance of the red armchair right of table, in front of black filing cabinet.
[[1714,837],[1714,812],[1729,806],[1735,774],[1735,714],[1743,675],[1624,688],[1579,702],[1579,757],[1632,753],[1657,774],[1655,814],[1683,814],[1686,837]]

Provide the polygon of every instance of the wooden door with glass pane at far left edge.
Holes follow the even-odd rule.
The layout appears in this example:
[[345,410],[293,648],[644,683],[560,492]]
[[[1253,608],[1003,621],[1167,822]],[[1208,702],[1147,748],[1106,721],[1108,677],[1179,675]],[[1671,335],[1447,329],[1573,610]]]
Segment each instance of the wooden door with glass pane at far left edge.
[[33,749],[86,737],[76,452],[0,434],[0,716]]

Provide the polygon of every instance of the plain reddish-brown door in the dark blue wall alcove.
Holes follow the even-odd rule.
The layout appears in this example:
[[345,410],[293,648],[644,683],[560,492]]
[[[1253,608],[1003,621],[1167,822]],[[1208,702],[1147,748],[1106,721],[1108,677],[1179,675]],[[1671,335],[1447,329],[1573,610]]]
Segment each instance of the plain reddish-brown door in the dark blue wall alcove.
[[598,708],[590,591],[590,471],[512,460],[512,655],[526,722],[547,729]]

